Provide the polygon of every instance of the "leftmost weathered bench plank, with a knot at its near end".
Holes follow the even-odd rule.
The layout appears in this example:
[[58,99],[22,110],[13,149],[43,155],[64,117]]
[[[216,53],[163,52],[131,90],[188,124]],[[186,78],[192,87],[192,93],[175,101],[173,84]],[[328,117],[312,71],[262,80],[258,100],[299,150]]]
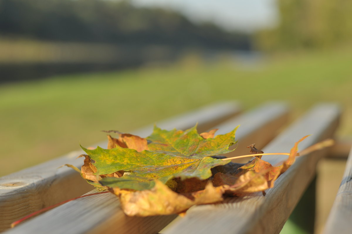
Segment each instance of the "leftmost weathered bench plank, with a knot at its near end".
[[[240,106],[237,102],[215,103],[158,122],[166,129],[187,129],[198,122],[200,131],[206,131],[220,122],[237,115]],[[152,132],[153,125],[134,131],[134,134],[146,137]],[[106,147],[106,141],[98,144]],[[76,157],[84,153],[74,151],[64,157],[30,167],[0,178],[0,232],[10,228],[10,224],[23,216],[44,207],[81,196],[94,189],[73,169],[60,166],[73,164],[80,168],[83,159]]]

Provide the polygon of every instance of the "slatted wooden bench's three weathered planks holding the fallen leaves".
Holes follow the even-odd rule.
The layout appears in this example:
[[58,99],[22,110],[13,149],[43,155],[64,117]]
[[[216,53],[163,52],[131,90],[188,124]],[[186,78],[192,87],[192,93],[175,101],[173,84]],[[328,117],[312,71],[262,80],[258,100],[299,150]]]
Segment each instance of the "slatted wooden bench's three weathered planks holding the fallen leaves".
[[[218,134],[223,134],[240,124],[236,133],[239,145],[234,151],[235,155],[240,155],[246,154],[246,146],[252,143],[256,143],[264,152],[289,152],[298,139],[313,134],[300,144],[299,148],[303,150],[332,137],[340,117],[337,105],[322,104],[313,107],[282,130],[287,124],[289,113],[284,103],[265,103],[243,114],[238,112],[238,105],[233,103],[217,104],[164,121],[158,126],[186,129],[198,121],[200,132],[219,128]],[[209,115],[213,117],[209,118]],[[133,133],[145,137],[150,132],[151,128],[148,127]],[[99,145],[104,147],[103,144]],[[165,233],[279,233],[313,180],[316,163],[327,152],[325,149],[298,157],[294,165],[278,178],[274,188],[266,191],[266,196],[260,193],[230,197],[221,204],[192,207],[184,218],[164,229]],[[92,189],[72,169],[56,169],[65,163],[82,165],[81,160],[73,160],[80,153],[73,152],[63,158],[2,177],[1,229],[7,229],[11,222],[26,214]],[[271,155],[263,156],[263,159],[276,164],[284,157]],[[175,217],[177,215],[128,217],[121,211],[115,195],[100,194],[65,203],[6,233],[158,233]]]

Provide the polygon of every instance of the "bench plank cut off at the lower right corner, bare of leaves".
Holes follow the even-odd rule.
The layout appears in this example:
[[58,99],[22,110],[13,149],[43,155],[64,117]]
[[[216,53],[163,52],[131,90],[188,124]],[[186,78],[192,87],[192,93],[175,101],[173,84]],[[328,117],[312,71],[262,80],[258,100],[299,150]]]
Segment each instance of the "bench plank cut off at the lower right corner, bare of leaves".
[[324,234],[352,232],[352,148],[333,207],[326,222]]

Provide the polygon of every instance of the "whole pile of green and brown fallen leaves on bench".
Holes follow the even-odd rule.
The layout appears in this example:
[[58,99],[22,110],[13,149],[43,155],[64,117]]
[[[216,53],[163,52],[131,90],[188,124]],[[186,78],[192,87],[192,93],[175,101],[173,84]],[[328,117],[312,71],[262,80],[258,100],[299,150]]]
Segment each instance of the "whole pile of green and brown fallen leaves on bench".
[[147,138],[107,131],[118,134],[108,135],[108,149],[81,146],[87,153],[79,156],[85,157],[81,175],[119,196],[130,216],[182,213],[196,204],[220,202],[225,194],[265,195],[264,190],[294,163],[297,145],[306,137],[279,166],[260,157],[247,164],[216,158],[232,151],[228,147],[236,143],[236,129],[215,137],[217,129],[199,134],[196,126],[186,131],[155,127]]

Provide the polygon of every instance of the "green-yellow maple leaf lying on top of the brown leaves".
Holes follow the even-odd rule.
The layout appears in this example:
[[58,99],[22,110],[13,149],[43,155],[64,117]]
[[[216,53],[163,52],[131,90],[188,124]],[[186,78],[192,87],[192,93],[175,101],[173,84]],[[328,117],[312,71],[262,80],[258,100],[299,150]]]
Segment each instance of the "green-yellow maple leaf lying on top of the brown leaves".
[[[186,131],[176,129],[167,131],[155,127],[145,141],[131,134],[119,133],[120,137],[133,139],[130,145],[134,149],[121,147],[118,142],[126,142],[125,139],[117,141],[111,137],[108,138],[111,142],[116,142],[115,148],[103,149],[98,146],[96,149],[88,150],[81,146],[91,160],[87,165],[89,171],[84,172],[88,175],[100,175],[102,179],[99,178],[99,182],[103,186],[132,190],[151,189],[156,179],[164,184],[175,177],[182,180],[187,178],[204,180],[212,176],[210,169],[229,163],[210,156],[231,152],[228,147],[235,143],[236,129],[214,138],[211,136],[215,132],[210,131],[207,139],[197,133],[196,126]],[[150,144],[147,145],[149,150],[138,152],[136,150],[138,144],[134,141],[142,144],[149,141]],[[92,167],[96,170],[91,170]],[[122,177],[111,176],[112,173],[121,171],[128,173]]]

